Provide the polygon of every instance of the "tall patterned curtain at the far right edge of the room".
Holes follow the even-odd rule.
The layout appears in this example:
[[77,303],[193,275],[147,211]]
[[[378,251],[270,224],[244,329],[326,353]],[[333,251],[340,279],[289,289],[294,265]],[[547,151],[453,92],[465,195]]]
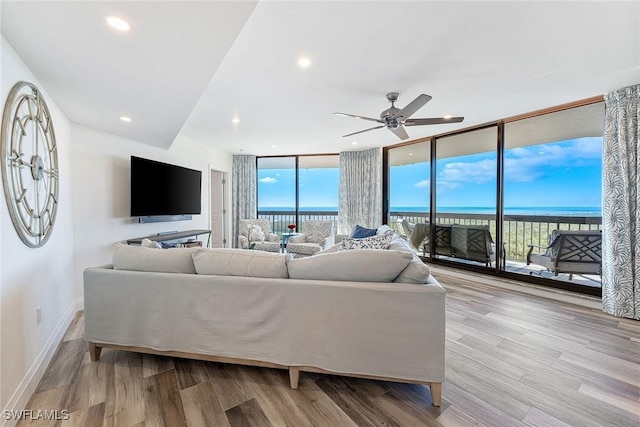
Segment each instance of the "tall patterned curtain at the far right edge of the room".
[[602,309],[640,320],[640,85],[605,95]]

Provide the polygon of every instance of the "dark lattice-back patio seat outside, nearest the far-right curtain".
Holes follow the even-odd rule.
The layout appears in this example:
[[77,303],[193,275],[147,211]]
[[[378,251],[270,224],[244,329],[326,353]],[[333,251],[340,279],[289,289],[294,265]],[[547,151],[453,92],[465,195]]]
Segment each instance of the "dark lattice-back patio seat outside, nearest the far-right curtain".
[[[534,253],[534,248],[544,249]],[[538,264],[553,272],[569,274],[602,274],[602,232],[554,230],[547,247],[529,245],[527,265]]]

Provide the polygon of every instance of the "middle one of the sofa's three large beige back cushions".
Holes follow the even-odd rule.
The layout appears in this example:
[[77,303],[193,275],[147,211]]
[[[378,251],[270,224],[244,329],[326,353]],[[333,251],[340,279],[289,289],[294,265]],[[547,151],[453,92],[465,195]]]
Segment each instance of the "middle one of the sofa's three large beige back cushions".
[[193,254],[198,274],[286,279],[287,259],[280,253],[246,249],[201,249]]

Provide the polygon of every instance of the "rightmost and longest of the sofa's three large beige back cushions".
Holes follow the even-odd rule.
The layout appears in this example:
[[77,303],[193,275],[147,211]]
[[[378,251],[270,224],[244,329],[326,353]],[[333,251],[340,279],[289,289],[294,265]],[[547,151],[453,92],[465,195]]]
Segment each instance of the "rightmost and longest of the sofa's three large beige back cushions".
[[339,251],[292,259],[288,262],[291,279],[353,282],[391,282],[411,261],[402,251]]

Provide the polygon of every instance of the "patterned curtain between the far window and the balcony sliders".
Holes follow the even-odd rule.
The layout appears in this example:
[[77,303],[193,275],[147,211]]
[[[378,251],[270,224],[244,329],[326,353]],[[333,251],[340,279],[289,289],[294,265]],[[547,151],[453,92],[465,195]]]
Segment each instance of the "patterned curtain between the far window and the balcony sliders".
[[382,218],[382,165],[380,149],[340,153],[338,233],[359,224],[374,228]]

